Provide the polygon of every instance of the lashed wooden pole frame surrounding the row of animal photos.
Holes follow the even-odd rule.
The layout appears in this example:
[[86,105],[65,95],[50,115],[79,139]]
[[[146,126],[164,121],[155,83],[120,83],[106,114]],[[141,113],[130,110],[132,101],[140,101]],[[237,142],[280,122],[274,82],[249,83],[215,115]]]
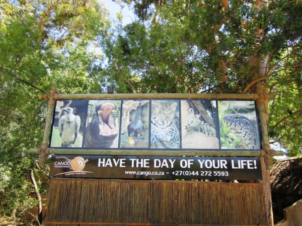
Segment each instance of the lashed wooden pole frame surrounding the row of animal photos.
[[[274,155],[282,156],[282,151],[274,151],[270,149],[269,139],[267,134],[267,100],[274,98],[274,94],[268,94],[267,90],[261,87],[261,84],[257,84],[257,93],[252,94],[199,94],[199,93],[131,93],[131,94],[59,94],[55,89],[51,89],[49,93],[44,96],[40,96],[42,99],[48,99],[48,112],[46,118],[46,126],[44,131],[43,142],[40,148],[30,149],[30,153],[37,153],[39,155],[40,166],[45,165],[47,155],[50,154],[64,154],[64,155],[138,155],[138,156],[153,156],[153,155],[162,155],[162,156],[249,156],[249,157],[261,157],[263,162],[262,166],[262,175],[263,175],[263,193],[261,196],[265,199],[265,208],[266,210],[271,210],[271,201],[270,201],[270,177],[269,170],[271,169],[272,160],[271,157]],[[53,109],[56,100],[60,99],[241,99],[241,100],[256,100],[258,110],[259,110],[259,119],[261,124],[261,150],[165,150],[165,152],[156,152],[154,150],[104,150],[104,149],[56,149],[49,147],[49,138],[51,131],[51,121],[53,116]],[[265,163],[265,164],[264,164]],[[65,185],[64,185],[65,186]],[[228,186],[228,185],[226,185]],[[261,199],[262,199],[261,198]],[[53,204],[53,203],[52,203]],[[226,213],[225,213],[226,214]],[[267,225],[273,225],[272,220],[272,211],[267,211],[266,223]],[[59,223],[59,222],[53,222]],[[60,222],[60,224],[63,222]],[[66,222],[64,222],[66,223]],[[180,224],[183,222],[179,222]],[[51,225],[49,223],[48,225]],[[70,223],[66,223],[70,224]],[[84,222],[83,222],[84,224]],[[104,223],[88,223],[88,224],[99,224],[103,225]],[[107,224],[107,223],[106,223]],[[115,224],[115,223],[110,223]],[[117,223],[119,225],[130,225]],[[132,224],[134,225],[134,224]],[[166,224],[152,224],[152,223],[139,223],[135,225],[166,225]],[[168,225],[168,224],[167,224]],[[170,224],[169,224],[170,225]],[[173,225],[173,224],[171,224]],[[186,224],[193,225],[193,224]],[[194,224],[199,225],[199,224]],[[200,224],[201,225],[201,224]],[[203,224],[204,225],[204,224]]]

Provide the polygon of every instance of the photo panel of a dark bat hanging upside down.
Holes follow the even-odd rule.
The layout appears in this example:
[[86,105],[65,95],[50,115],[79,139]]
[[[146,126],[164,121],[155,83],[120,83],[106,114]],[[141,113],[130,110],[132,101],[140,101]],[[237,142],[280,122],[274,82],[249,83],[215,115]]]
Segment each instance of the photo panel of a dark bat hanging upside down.
[[120,148],[149,147],[150,100],[123,100]]

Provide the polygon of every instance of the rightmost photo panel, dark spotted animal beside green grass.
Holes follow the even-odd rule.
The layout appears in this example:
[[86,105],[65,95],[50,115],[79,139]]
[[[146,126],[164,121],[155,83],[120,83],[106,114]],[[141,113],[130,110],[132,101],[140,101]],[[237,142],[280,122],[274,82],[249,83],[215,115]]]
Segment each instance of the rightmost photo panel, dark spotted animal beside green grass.
[[255,101],[219,100],[221,149],[260,149]]

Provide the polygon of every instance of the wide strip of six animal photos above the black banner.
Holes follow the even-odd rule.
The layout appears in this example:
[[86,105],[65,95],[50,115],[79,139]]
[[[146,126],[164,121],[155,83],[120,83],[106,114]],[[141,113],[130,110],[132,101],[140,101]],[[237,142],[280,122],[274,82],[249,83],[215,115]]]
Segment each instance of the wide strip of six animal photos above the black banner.
[[57,100],[56,149],[259,150],[255,101]]

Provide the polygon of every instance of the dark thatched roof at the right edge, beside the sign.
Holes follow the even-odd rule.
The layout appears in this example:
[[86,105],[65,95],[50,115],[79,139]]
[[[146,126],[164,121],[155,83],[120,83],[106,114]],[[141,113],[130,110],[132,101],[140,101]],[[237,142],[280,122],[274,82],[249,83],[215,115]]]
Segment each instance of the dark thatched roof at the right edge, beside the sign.
[[302,156],[276,162],[270,175],[272,193],[302,195]]

